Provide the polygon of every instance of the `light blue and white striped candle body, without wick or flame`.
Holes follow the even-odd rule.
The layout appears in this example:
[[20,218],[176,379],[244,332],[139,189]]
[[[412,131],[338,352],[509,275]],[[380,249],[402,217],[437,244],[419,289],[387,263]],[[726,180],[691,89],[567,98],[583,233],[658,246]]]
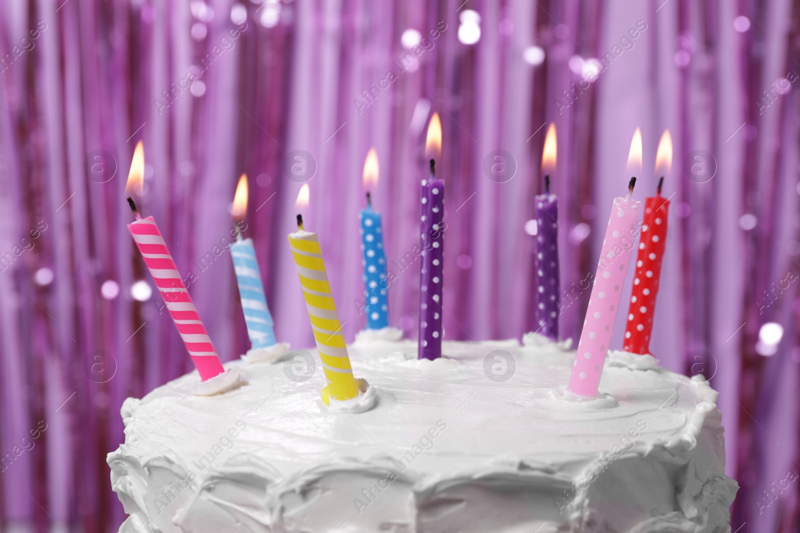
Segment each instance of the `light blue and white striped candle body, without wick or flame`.
[[261,272],[255,259],[253,239],[236,241],[230,245],[230,255],[234,258],[236,282],[245,312],[247,335],[253,349],[269,348],[275,344],[274,321],[270,308],[266,305]]

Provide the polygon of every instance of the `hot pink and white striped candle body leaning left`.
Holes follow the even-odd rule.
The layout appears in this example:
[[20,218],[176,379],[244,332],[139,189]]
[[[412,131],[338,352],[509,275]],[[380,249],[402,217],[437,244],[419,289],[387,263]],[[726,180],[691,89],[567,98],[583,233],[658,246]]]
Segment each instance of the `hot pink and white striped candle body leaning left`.
[[224,372],[222,363],[153,217],[129,224],[128,230],[144,257],[145,265],[161,292],[194,365],[198,368],[200,380],[206,381],[218,376]]

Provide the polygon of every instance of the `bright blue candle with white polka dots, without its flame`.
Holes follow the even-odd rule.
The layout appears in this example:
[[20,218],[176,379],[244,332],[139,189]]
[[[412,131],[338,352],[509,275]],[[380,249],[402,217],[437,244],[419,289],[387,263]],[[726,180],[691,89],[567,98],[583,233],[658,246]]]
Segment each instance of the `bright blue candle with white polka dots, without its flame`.
[[386,253],[383,251],[381,213],[372,210],[370,193],[366,194],[366,209],[358,212],[361,222],[361,249],[364,265],[364,287],[366,288],[366,328],[382,329],[389,326],[389,305],[386,298]]

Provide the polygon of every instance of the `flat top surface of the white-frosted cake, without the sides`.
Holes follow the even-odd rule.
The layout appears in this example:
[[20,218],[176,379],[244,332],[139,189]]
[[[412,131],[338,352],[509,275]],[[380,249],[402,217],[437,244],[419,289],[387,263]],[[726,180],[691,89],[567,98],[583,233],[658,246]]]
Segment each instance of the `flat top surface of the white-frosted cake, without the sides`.
[[600,392],[612,398],[576,403],[554,393],[569,380],[574,352],[517,340],[442,347],[444,357],[430,361],[415,359],[412,340],[350,345],[354,375],[378,393],[375,407],[358,414],[320,407],[325,383],[314,349],[307,380],[296,374],[314,363],[296,352],[275,364],[226,364],[239,365],[246,383],[218,396],[194,396],[192,372],[126,400],[120,451],[142,463],[166,457],[180,470],[222,444],[229,457],[215,465],[245,453],[298,483],[318,469],[385,466],[408,451],[406,474],[426,483],[526,469],[568,479],[615,447],[669,460],[693,447],[708,413],[718,419],[708,384],[630,354],[606,360]]

